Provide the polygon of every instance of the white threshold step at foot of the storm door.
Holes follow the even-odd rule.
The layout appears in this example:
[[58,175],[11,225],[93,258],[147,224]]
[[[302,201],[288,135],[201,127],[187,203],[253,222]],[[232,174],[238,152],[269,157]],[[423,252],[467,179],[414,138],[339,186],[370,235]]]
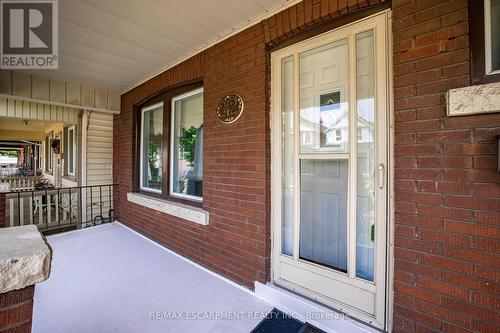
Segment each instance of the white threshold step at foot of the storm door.
[[329,333],[385,332],[358,318],[276,283],[255,282],[255,294],[276,308]]

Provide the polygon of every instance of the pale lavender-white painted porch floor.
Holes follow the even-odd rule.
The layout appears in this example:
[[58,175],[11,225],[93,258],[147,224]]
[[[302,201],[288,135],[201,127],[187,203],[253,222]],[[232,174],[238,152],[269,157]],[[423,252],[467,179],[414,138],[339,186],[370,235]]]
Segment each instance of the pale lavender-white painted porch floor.
[[116,222],[48,241],[52,271],[36,286],[34,333],[248,333],[272,310]]

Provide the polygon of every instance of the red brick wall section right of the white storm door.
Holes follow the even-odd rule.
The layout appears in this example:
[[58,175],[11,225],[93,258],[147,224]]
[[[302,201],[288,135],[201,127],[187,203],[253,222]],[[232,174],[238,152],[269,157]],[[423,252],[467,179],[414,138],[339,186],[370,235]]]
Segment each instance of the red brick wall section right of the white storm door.
[[500,114],[445,109],[470,85],[467,2],[392,3],[394,331],[498,332]]

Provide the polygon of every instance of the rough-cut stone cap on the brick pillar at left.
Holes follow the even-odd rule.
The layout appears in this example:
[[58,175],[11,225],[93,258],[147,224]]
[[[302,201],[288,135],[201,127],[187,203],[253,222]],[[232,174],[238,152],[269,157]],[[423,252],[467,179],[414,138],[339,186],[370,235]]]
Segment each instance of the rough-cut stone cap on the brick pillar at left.
[[0,294],[47,280],[51,260],[36,226],[0,229]]

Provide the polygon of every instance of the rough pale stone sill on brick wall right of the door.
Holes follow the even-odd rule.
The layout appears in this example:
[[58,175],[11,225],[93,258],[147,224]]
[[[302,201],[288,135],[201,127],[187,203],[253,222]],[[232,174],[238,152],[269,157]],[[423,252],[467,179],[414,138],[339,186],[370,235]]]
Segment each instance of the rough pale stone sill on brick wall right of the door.
[[500,82],[450,89],[446,94],[448,116],[500,112]]

